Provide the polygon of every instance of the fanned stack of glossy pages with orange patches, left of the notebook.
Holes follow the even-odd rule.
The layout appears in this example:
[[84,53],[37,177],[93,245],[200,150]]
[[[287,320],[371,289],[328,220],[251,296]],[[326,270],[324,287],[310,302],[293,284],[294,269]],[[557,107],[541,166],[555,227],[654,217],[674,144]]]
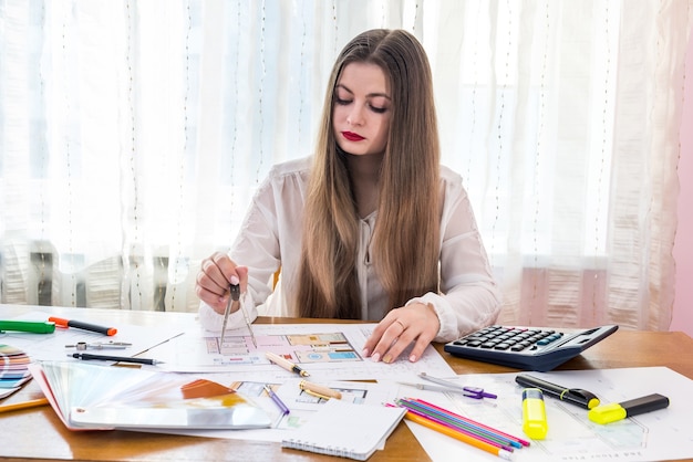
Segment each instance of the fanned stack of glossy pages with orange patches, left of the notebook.
[[268,428],[247,397],[189,375],[71,361],[29,365],[71,430]]

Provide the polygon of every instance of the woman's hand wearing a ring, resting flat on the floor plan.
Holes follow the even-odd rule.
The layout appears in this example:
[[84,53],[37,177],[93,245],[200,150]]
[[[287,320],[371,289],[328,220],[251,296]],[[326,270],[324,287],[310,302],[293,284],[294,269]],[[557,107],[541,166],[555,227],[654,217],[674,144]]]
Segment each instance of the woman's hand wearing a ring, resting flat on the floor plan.
[[363,356],[374,361],[393,363],[414,343],[408,360],[415,363],[439,328],[441,322],[431,304],[412,303],[392,309],[365,342]]

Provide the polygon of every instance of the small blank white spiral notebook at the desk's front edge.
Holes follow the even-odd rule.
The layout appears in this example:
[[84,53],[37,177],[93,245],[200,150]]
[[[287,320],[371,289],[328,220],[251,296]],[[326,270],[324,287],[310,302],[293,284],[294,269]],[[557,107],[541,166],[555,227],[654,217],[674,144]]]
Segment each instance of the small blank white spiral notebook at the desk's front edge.
[[385,440],[406,412],[403,408],[354,405],[337,399],[321,406],[291,438],[281,441],[282,448],[365,461],[384,448]]

